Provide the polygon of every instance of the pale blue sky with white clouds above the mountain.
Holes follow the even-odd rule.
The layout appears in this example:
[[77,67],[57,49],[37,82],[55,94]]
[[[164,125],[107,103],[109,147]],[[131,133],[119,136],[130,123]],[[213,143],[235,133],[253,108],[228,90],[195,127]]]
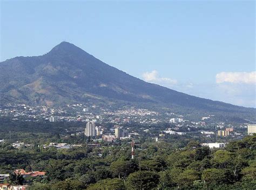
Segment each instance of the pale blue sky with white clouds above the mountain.
[[1,1],[0,60],[62,41],[171,89],[255,105],[254,1]]

